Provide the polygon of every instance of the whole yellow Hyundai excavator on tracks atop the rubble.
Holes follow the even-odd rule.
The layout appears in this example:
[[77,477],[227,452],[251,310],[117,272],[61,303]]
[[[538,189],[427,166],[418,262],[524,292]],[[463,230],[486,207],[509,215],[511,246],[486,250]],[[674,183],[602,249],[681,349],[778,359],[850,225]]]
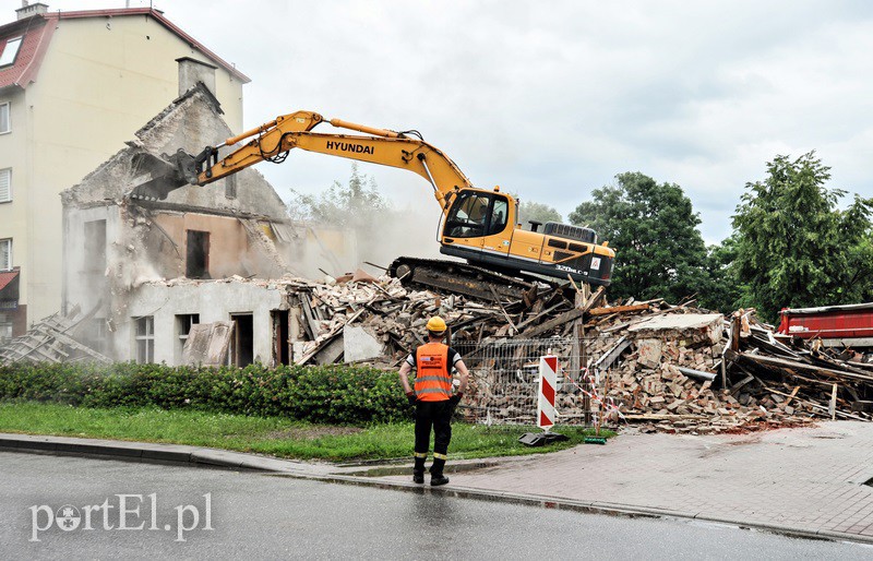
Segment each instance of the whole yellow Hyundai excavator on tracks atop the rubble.
[[[442,210],[440,252],[465,263],[398,258],[390,273],[404,284],[415,284],[492,299],[519,296],[536,286],[538,277],[608,286],[615,252],[598,243],[590,228],[559,223],[530,222],[523,229],[518,203],[499,188],[478,189],[449,156],[428,144],[418,131],[395,132],[331,119],[337,129],[362,134],[312,132],[324,119],[311,111],[277,117],[261,127],[207,146],[198,155],[178,151],[163,155],[169,168],[152,170],[151,181],[131,196],[165,199],[184,184],[206,186],[260,162],[284,162],[294,148],[408,169],[424,178]],[[247,139],[240,147],[230,148]],[[219,150],[230,148],[219,157]],[[542,226],[542,230],[539,228]],[[536,275],[536,276],[531,276]]]

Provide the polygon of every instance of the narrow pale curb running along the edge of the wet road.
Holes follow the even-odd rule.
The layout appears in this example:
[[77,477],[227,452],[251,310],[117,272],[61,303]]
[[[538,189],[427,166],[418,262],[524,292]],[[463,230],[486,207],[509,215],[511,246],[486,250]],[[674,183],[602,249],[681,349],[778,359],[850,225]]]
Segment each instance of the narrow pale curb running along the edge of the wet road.
[[[631,518],[647,517],[701,521],[715,524],[726,524],[742,529],[753,529],[806,539],[853,541],[873,545],[873,537],[861,536],[857,534],[845,534],[832,530],[810,530],[778,524],[762,524],[730,517],[671,511],[668,509],[651,506],[606,503],[600,501],[579,501],[560,497],[543,497],[509,491],[491,491],[457,486],[430,487],[428,485],[416,485],[411,481],[405,482],[385,480],[375,478],[373,475],[370,475],[369,477],[366,475],[358,475],[361,474],[361,472],[356,472],[349,475],[319,474],[313,472],[312,466],[307,468],[307,466],[303,464],[295,464],[290,461],[256,456],[241,452],[186,446],[181,444],[152,444],[144,442],[75,439],[69,437],[36,437],[31,434],[0,433],[0,451],[105,457],[120,461],[159,464],[189,464],[226,469],[250,469],[265,472],[273,477],[289,477],[294,479],[307,479],[330,484],[356,485],[378,489],[417,492],[419,494],[432,493],[442,497],[458,497],[480,501],[504,502],[509,504],[521,504],[553,510],[567,510],[587,514],[605,514],[609,516],[625,516]],[[493,462],[489,463],[488,461],[482,461],[480,463],[486,464],[485,467],[493,465]],[[473,463],[474,466],[477,464],[479,463]],[[390,472],[393,474],[400,468],[397,466],[390,466],[386,469],[390,469]],[[367,470],[366,473],[371,473],[371,470]]]

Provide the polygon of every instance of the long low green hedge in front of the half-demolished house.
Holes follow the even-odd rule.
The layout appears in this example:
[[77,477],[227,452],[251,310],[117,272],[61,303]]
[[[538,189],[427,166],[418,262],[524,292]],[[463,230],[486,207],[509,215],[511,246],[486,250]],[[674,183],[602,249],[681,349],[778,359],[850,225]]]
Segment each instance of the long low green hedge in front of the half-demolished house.
[[344,366],[12,365],[0,367],[0,399],[195,408],[339,425],[397,421],[410,413],[395,372]]

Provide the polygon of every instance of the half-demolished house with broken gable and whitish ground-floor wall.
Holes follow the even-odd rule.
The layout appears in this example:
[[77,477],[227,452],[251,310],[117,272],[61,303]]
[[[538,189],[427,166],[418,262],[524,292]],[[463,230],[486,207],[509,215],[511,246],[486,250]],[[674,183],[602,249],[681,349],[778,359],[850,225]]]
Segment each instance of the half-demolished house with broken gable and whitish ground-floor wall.
[[300,246],[285,204],[261,174],[246,169],[160,201],[130,196],[148,179],[140,156],[217,144],[231,135],[222,115],[210,88],[196,82],[62,193],[62,311],[87,311],[80,338],[115,360],[181,363],[192,326],[202,324],[226,341],[217,343],[218,358],[201,362],[288,360],[287,345],[277,350],[274,335],[287,342],[284,290],[244,282],[294,273],[288,263]]

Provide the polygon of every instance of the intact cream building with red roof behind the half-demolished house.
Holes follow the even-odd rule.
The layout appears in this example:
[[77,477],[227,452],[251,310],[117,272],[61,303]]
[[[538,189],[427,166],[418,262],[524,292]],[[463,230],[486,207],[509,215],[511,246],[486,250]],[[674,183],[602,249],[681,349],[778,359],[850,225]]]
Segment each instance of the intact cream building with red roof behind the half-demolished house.
[[249,82],[158,10],[23,4],[0,25],[0,337],[61,309],[60,192],[192,82],[240,131]]

